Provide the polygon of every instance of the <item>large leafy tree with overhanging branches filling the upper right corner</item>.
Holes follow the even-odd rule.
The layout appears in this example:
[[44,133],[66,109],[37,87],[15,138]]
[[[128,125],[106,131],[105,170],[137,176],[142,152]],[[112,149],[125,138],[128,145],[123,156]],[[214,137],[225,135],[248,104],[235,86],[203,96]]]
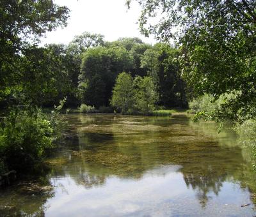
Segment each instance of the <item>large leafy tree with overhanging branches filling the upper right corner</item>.
[[[141,31],[155,34],[159,40],[177,41],[182,51],[182,77],[196,95],[208,93],[218,98],[237,93],[223,105],[218,118],[255,116],[255,1],[138,2],[142,6]],[[150,24],[150,17],[156,14],[159,22]],[[231,116],[228,108],[232,108]]]

